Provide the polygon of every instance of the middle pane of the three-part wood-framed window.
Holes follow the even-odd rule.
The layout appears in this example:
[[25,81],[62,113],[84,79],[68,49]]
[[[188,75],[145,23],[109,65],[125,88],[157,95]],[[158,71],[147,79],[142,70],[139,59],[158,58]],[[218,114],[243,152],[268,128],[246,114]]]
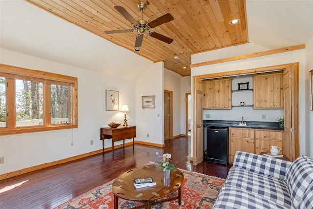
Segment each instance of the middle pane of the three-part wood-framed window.
[[15,80],[16,127],[43,125],[43,83]]

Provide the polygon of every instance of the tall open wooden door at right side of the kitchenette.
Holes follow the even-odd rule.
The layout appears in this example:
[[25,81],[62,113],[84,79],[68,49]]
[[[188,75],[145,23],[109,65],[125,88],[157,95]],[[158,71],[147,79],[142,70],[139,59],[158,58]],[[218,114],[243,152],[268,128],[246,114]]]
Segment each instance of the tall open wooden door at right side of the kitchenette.
[[284,153],[294,161],[299,156],[298,64],[284,70]]

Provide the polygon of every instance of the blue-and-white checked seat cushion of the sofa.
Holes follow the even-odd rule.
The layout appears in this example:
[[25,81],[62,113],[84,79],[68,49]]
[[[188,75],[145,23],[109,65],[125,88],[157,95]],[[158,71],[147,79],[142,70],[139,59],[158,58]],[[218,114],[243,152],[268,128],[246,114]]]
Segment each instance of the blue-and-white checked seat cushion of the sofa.
[[279,178],[232,167],[225,185],[245,190],[263,199],[276,202],[277,205],[283,207],[293,207],[287,183]]

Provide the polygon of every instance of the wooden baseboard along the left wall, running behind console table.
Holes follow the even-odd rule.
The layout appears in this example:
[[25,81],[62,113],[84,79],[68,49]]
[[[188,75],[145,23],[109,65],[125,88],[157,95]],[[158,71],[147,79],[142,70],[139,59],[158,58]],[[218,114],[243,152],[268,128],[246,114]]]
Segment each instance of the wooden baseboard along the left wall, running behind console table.
[[[149,145],[149,146],[162,147],[162,148],[165,146],[165,144],[155,144],[155,143],[149,143],[149,142],[144,142],[144,141],[134,141],[134,143],[135,144],[143,144],[143,145]],[[131,142],[126,142],[125,146],[133,146],[133,142],[132,141]],[[119,144],[119,145],[114,146],[115,149],[116,148],[120,148],[120,147],[123,147],[123,144]],[[112,151],[112,147],[105,148],[104,151],[105,152]],[[95,151],[92,151],[92,152],[89,152],[89,153],[85,153],[85,154],[81,154],[81,155],[72,156],[72,157],[61,159],[61,160],[57,160],[57,161],[53,161],[53,162],[50,162],[50,163],[44,163],[44,164],[40,164],[40,165],[35,165],[35,166],[32,166],[32,167],[24,168],[24,169],[21,169],[21,170],[12,171],[12,172],[9,172],[9,173],[4,173],[4,174],[0,175],[0,180],[8,179],[8,178],[11,178],[11,177],[14,177],[14,176],[18,176],[18,175],[22,175],[22,174],[26,174],[26,173],[30,173],[30,172],[37,171],[37,170],[44,169],[44,168],[48,168],[48,167],[51,167],[51,166],[54,166],[54,165],[59,165],[59,164],[62,164],[62,163],[67,163],[67,162],[70,162],[70,161],[79,160],[79,159],[90,157],[92,155],[97,155],[97,154],[100,154],[100,153],[102,153],[102,149],[95,150]]]

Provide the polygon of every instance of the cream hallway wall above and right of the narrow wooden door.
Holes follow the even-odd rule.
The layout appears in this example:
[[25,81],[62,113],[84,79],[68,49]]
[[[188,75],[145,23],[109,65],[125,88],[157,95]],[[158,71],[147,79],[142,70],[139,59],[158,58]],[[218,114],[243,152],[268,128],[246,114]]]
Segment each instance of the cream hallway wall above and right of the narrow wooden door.
[[180,78],[181,75],[165,69],[164,90],[169,90],[173,92],[173,136],[180,135],[180,121],[184,119],[181,117]]

